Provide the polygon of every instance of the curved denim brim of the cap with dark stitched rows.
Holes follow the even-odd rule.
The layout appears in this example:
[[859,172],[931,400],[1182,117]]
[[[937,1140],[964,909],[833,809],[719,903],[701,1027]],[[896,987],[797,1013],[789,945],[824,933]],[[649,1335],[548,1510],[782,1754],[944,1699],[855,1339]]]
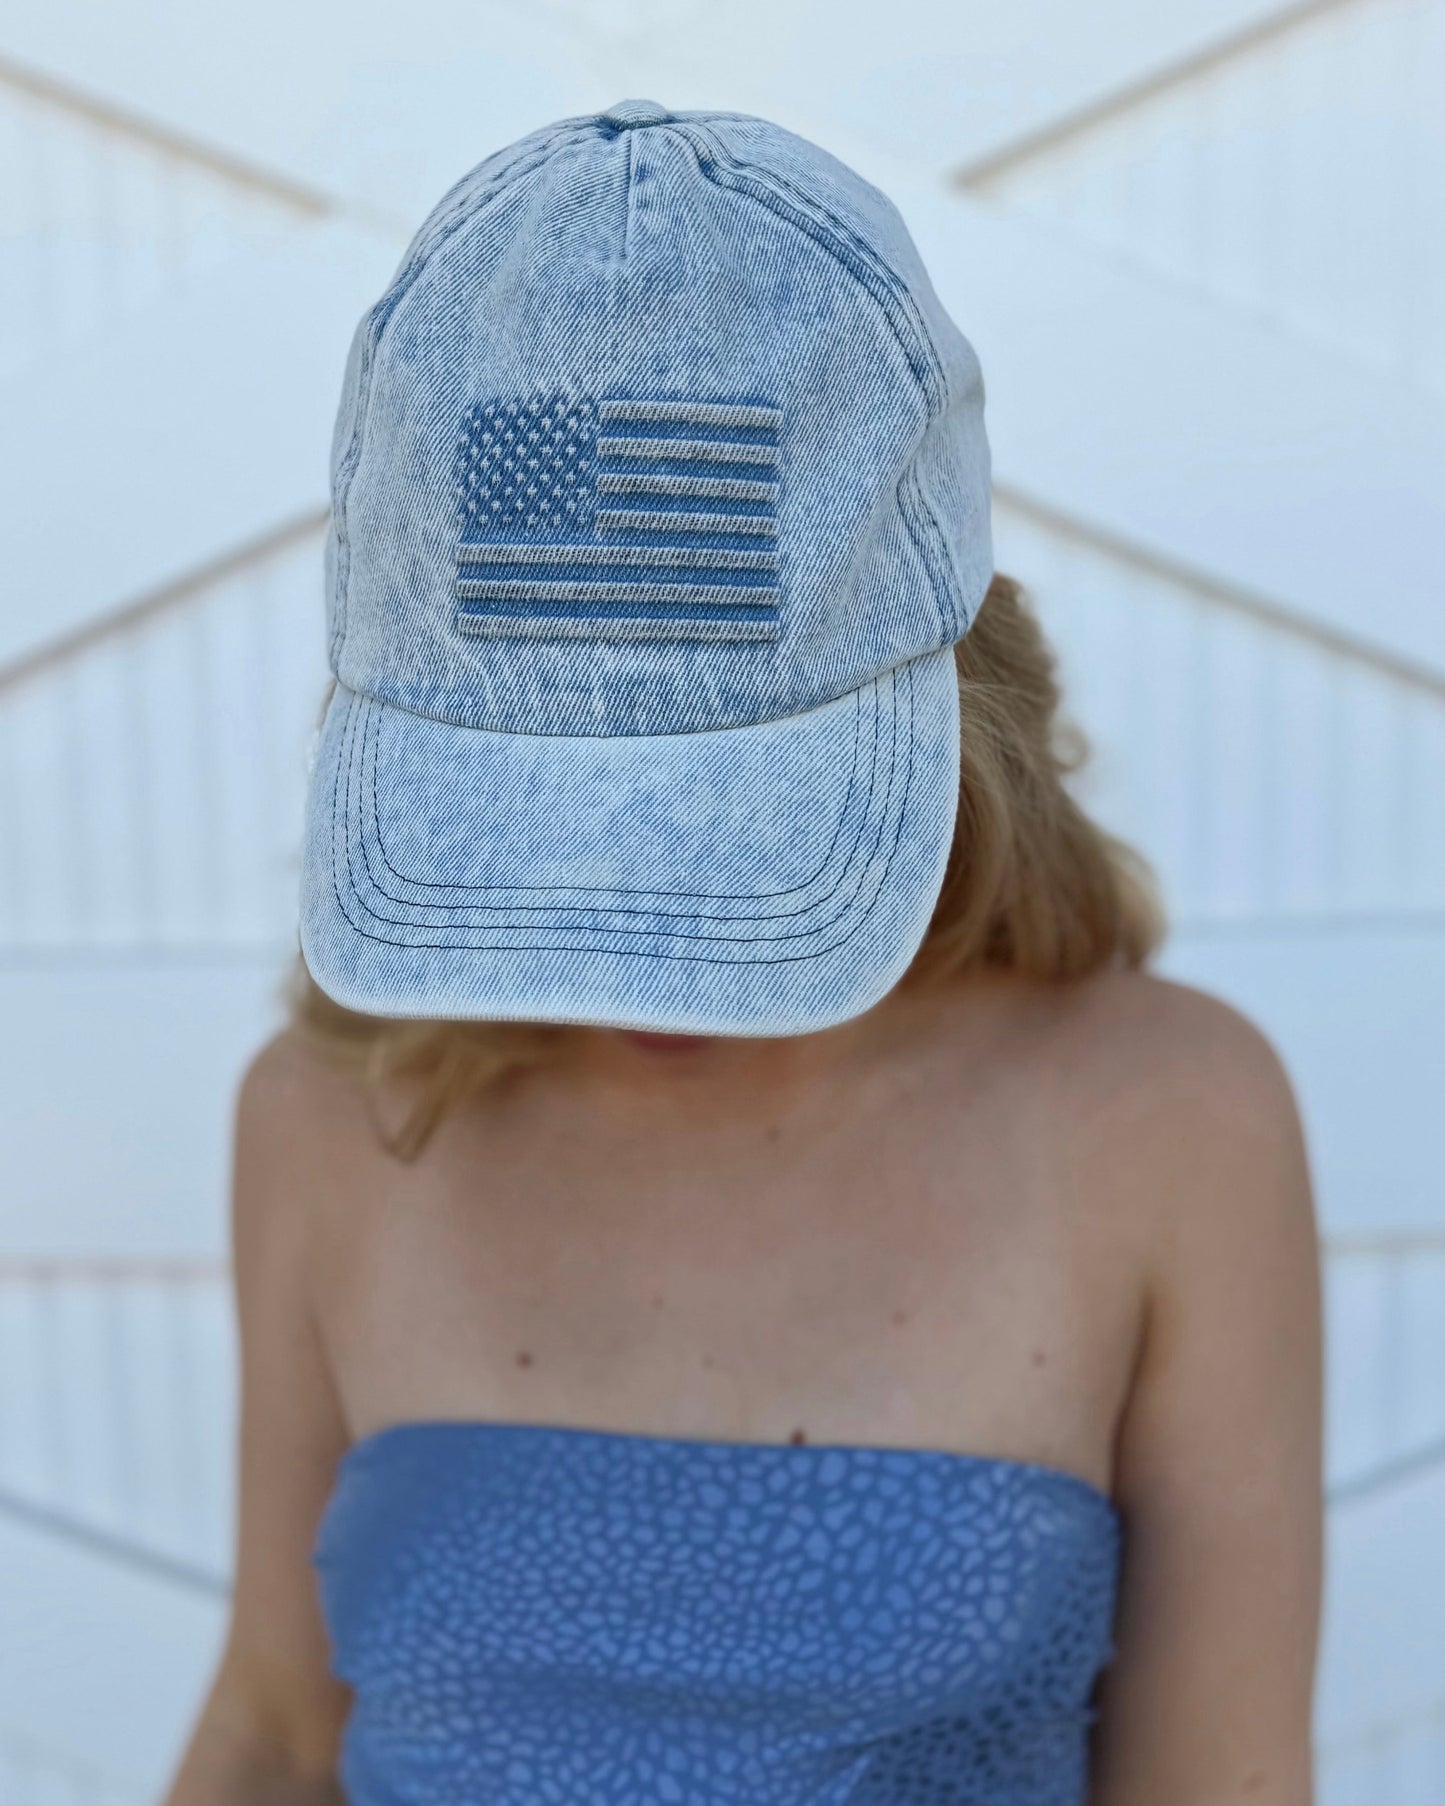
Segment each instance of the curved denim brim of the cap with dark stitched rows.
[[903,975],[957,786],[952,647],[802,715],[647,739],[459,728],[338,686],[302,950],[372,1015],[800,1035]]

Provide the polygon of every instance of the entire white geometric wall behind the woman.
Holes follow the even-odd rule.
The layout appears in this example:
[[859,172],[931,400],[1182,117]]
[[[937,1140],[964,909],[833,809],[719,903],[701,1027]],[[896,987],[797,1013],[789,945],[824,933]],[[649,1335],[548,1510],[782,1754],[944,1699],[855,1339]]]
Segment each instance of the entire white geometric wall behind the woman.
[[1275,1037],[1328,1250],[1326,1806],[1445,1799],[1445,0],[11,0],[0,1799],[152,1797],[229,1557],[229,1096],[276,1017],[350,327],[625,94],[900,204],[990,383],[1167,966]]

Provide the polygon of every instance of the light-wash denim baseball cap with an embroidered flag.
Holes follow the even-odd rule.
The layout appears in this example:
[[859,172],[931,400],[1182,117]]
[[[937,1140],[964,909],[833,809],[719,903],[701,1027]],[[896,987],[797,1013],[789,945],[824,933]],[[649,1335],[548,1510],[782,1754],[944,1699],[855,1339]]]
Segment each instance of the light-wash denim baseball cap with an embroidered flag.
[[302,950],[374,1015],[793,1035],[943,881],[977,359],[892,204],[623,101],[462,177],[361,320]]

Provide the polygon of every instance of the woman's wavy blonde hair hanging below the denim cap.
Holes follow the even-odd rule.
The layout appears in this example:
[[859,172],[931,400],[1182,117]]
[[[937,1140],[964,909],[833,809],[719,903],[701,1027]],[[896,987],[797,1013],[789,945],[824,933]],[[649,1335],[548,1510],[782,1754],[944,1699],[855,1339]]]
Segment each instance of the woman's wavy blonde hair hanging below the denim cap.
[[[1058,719],[1055,657],[1013,578],[993,576],[956,661],[954,845],[901,984],[957,984],[986,968],[1067,984],[1105,966],[1142,966],[1163,937],[1158,890],[1143,860],[1091,822],[1067,787],[1087,746]],[[374,1094],[401,1082],[403,1122],[379,1131],[401,1159],[421,1152],[448,1111],[545,1058],[567,1033],[359,1015],[332,1002],[300,959],[287,1004],[305,1038]]]

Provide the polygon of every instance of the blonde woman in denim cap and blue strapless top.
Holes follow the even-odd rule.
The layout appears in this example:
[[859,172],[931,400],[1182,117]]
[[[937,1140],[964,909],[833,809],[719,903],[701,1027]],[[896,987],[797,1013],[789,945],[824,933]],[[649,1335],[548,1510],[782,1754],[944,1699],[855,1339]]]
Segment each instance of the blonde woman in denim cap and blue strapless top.
[[892,208],[648,101],[482,164],[327,573],[172,1806],[1306,1802],[1295,1109],[1142,970]]

